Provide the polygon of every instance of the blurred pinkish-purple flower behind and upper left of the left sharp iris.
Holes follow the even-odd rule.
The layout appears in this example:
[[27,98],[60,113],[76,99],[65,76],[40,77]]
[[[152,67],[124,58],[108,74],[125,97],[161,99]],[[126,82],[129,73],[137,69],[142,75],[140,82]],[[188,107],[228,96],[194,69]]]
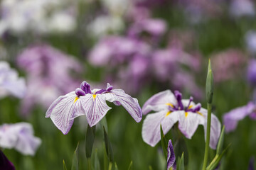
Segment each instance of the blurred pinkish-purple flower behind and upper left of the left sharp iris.
[[28,114],[35,104],[47,108],[55,98],[74,89],[79,81],[70,73],[82,72],[74,57],[49,45],[28,47],[18,56],[18,65],[25,69],[28,79],[28,93],[22,103],[23,114]]

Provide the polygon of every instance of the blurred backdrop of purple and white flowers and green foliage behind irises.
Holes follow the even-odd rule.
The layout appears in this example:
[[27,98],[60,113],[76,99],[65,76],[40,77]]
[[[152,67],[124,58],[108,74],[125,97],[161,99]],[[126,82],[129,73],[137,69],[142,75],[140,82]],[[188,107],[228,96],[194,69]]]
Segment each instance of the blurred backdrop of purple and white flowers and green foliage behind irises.
[[[206,108],[210,58],[213,113],[220,122],[231,109],[255,101],[255,1],[1,0],[0,5],[0,60],[26,81],[24,96],[1,95],[0,123],[31,123],[42,140],[34,157],[4,149],[16,169],[63,169],[63,159],[70,168],[78,142],[80,169],[86,169],[85,116],[75,119],[68,135],[45,118],[50,103],[83,80],[92,89],[105,88],[107,82],[124,89],[140,106],[153,94],[171,89],[181,91],[183,98],[193,96]],[[166,169],[161,144],[150,147],[142,140],[144,118],[136,123],[124,108],[108,105],[112,110],[96,127],[93,149],[101,169],[102,125],[119,169],[127,169],[131,161],[133,169]],[[232,145],[220,169],[247,169],[256,156],[255,132],[255,120],[245,118],[225,134],[224,145]],[[186,169],[201,169],[203,126],[184,141]]]

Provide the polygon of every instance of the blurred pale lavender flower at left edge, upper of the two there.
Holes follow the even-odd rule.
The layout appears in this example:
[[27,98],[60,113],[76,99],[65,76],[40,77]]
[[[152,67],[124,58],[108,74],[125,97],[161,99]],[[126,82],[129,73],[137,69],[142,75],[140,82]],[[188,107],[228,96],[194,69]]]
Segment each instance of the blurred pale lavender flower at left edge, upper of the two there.
[[8,94],[23,98],[26,94],[26,85],[23,78],[18,77],[16,70],[11,69],[9,63],[0,62],[0,97]]

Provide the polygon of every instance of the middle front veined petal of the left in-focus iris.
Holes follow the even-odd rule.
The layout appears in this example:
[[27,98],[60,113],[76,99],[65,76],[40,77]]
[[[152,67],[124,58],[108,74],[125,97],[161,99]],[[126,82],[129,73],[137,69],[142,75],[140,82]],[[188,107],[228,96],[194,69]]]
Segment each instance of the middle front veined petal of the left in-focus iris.
[[102,94],[80,96],[80,101],[90,127],[96,125],[111,109]]

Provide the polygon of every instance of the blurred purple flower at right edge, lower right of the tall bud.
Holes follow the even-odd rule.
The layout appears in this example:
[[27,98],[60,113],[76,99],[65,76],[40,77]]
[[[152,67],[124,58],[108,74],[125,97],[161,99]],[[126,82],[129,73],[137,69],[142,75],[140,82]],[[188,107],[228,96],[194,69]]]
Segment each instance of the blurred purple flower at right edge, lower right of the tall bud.
[[245,116],[249,115],[250,118],[256,120],[256,106],[254,103],[249,102],[246,106],[242,106],[239,108],[235,108],[228,113],[225,113],[223,116],[223,121],[225,125],[225,131],[231,132],[235,130],[238,125],[238,121],[245,118]]

